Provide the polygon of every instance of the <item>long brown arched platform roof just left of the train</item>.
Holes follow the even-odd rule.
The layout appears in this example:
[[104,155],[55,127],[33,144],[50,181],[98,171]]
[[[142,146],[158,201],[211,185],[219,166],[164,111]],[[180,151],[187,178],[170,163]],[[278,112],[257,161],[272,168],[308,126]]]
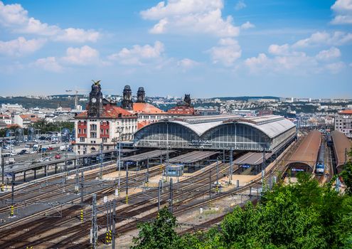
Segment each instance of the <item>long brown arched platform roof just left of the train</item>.
[[299,147],[294,151],[291,157],[289,157],[286,165],[289,166],[289,164],[300,163],[314,169],[321,143],[321,133],[317,130],[313,130],[303,139]]

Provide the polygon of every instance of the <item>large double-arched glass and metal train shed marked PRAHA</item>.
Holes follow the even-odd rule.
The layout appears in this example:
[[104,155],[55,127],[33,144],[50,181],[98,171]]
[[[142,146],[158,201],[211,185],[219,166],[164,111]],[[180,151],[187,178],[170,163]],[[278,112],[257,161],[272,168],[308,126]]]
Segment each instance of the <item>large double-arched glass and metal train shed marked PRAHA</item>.
[[275,152],[296,137],[293,122],[277,115],[166,118],[134,134],[134,147]]

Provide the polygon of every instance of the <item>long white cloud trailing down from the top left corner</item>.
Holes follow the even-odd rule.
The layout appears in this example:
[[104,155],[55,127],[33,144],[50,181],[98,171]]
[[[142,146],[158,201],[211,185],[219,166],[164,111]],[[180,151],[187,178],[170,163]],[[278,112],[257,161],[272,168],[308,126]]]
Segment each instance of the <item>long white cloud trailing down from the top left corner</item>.
[[85,31],[81,28],[62,29],[55,25],[42,23],[36,18],[29,17],[28,11],[23,9],[21,4],[4,4],[2,1],[0,1],[0,24],[15,33],[47,36],[55,41],[95,42],[100,37],[97,31]]

